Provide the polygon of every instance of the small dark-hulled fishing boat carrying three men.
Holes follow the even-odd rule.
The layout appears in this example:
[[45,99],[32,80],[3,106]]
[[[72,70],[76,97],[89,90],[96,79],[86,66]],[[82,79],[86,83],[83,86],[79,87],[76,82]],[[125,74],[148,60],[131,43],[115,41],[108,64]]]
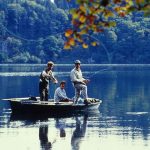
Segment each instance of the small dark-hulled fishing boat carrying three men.
[[10,102],[12,113],[22,114],[66,114],[81,111],[96,110],[102,102],[99,99],[88,98],[86,102],[74,104],[71,102],[55,103],[53,99],[40,101],[39,97],[3,99]]

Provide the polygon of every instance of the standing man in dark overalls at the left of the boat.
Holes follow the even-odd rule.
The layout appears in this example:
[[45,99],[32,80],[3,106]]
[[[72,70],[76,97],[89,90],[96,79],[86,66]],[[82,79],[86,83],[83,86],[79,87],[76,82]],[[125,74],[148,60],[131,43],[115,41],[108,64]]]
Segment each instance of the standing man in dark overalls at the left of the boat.
[[54,77],[52,72],[53,66],[54,63],[52,61],[49,61],[47,63],[47,68],[43,70],[43,72],[40,75],[39,93],[41,101],[48,101],[49,82],[52,80],[53,83],[58,83],[57,79]]

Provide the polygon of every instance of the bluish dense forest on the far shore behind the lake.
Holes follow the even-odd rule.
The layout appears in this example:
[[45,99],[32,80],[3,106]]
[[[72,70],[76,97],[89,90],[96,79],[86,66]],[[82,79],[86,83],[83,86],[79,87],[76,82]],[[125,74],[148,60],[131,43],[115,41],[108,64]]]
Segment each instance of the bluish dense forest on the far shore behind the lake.
[[93,35],[101,44],[64,50],[64,32],[71,26],[66,0],[1,0],[0,63],[150,63],[150,17],[134,12],[116,17],[116,27]]

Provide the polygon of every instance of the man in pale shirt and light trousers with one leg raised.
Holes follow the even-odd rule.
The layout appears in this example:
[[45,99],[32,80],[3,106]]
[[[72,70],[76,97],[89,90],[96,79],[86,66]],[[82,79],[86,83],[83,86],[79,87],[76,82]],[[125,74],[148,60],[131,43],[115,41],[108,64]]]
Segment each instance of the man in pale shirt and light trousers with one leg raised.
[[75,68],[72,69],[70,77],[75,88],[75,101],[74,102],[77,103],[81,93],[84,99],[88,98],[86,84],[89,82],[89,80],[84,79],[82,76],[82,72],[80,69],[80,65],[81,65],[80,60],[76,60],[74,63],[75,63]]

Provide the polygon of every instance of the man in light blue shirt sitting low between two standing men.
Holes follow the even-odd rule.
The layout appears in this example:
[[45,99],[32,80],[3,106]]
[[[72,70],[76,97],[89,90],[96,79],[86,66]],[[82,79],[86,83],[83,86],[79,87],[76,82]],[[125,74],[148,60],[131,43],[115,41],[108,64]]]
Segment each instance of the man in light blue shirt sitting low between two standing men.
[[55,90],[54,102],[58,103],[58,102],[69,102],[69,101],[71,101],[71,99],[69,99],[66,95],[65,84],[66,84],[65,81],[61,81],[60,87],[58,87]]

